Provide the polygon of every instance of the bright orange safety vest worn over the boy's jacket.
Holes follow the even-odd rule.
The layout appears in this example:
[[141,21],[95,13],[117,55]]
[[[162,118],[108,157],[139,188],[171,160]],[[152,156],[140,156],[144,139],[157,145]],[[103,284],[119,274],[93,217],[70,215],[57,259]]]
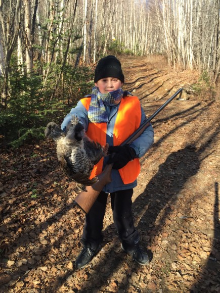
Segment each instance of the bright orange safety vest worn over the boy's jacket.
[[[81,99],[82,105],[87,111],[90,108],[91,97]],[[135,132],[141,124],[141,106],[137,96],[124,96],[119,105],[113,130],[113,144],[120,145],[126,138]],[[107,123],[89,123],[86,131],[87,135],[101,145],[106,144]],[[103,158],[93,168],[91,178],[102,172]],[[134,182],[141,170],[139,159],[128,162],[119,169],[121,179],[124,184]]]

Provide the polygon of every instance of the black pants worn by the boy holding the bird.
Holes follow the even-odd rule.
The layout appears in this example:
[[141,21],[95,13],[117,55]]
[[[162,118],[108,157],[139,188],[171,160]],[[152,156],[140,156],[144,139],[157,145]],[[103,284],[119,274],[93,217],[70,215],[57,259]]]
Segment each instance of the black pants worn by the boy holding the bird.
[[[131,212],[133,189],[119,190],[111,195],[113,220],[125,250],[133,249],[139,242]],[[108,193],[101,192],[93,207],[86,214],[81,242],[85,247],[96,249],[103,240],[102,229]]]

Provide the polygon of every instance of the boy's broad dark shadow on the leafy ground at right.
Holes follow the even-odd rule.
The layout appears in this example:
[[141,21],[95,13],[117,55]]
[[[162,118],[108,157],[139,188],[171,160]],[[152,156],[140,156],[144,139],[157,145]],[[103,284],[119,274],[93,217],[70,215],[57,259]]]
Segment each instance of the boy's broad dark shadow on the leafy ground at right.
[[[200,166],[199,153],[195,145],[189,144],[185,149],[170,154],[166,161],[159,166],[157,174],[150,180],[145,191],[134,202],[134,209],[141,213],[143,202],[147,206],[146,212],[139,221],[138,228],[144,228],[149,223],[154,225],[153,230],[158,231],[164,220],[172,212],[171,205],[178,201],[178,196],[187,180],[194,176]],[[164,209],[165,208],[165,209]],[[164,211],[158,224],[155,224],[161,210]],[[150,229],[148,232],[152,231]]]

